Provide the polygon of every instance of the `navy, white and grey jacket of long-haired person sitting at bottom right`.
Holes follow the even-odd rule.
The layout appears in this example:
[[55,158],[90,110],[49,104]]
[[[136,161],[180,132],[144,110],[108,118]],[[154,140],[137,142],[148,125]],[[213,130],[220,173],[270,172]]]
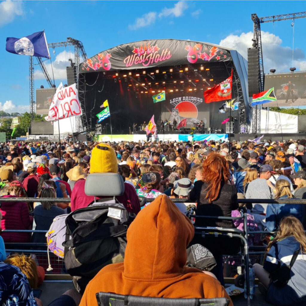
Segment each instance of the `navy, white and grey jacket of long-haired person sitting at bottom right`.
[[[281,265],[289,265],[293,253],[300,248],[300,243],[293,237],[287,237],[272,244],[267,253],[263,268],[269,273]],[[282,288],[270,284],[267,292],[267,301],[277,306],[293,306],[306,304],[306,254],[300,251],[293,267],[291,278]]]

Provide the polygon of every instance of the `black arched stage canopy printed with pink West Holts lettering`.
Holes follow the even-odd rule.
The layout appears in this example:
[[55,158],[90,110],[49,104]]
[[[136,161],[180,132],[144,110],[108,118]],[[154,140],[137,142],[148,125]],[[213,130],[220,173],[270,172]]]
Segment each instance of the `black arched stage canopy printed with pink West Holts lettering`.
[[231,51],[230,48],[190,40],[142,40],[96,54],[80,65],[80,73],[228,62],[232,60]]

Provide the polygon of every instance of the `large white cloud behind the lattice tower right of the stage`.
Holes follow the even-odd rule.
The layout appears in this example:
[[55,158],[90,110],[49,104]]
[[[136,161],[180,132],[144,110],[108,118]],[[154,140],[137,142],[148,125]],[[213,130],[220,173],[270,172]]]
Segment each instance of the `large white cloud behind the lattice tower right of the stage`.
[[[252,47],[253,33],[241,33],[239,36],[230,34],[220,41],[220,45],[237,50],[245,59],[248,58],[248,48]],[[276,69],[276,72],[289,72],[292,67],[292,48],[283,47],[282,39],[269,32],[261,32],[263,48],[264,71]],[[274,46],[273,46],[274,41]],[[306,70],[306,58],[303,50],[294,49],[293,65],[298,70]]]

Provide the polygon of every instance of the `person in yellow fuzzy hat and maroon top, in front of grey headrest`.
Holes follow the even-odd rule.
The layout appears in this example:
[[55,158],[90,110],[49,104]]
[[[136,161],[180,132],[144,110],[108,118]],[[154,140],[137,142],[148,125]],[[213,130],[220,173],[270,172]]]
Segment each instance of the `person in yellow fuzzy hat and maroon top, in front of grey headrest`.
[[[92,152],[90,159],[90,173],[117,173],[118,163],[117,156],[114,149],[106,143],[97,144]],[[122,203],[127,211],[138,214],[140,211],[140,203],[136,190],[128,183],[124,184],[125,191],[122,196],[117,196],[117,200]],[[71,211],[87,207],[95,200],[94,196],[85,194],[85,180],[79,180],[74,184],[73,192],[71,194]],[[103,197],[96,197],[100,199]]]

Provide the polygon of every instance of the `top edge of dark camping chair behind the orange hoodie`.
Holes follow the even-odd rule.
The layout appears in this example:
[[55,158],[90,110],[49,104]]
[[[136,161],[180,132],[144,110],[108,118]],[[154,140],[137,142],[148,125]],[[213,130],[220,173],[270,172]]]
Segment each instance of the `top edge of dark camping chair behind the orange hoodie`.
[[225,297],[214,299],[173,299],[120,295],[110,292],[98,292],[96,293],[96,299],[99,306],[228,306],[230,302]]

